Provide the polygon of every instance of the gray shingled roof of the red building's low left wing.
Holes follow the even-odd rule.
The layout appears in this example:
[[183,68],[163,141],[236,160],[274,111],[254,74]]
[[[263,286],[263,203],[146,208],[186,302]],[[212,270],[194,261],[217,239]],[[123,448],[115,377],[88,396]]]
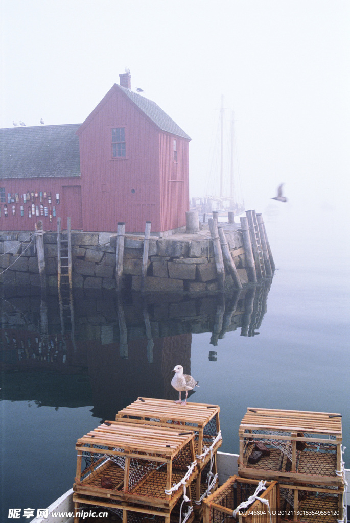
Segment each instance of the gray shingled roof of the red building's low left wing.
[[0,178],[80,176],[80,126],[0,129]]

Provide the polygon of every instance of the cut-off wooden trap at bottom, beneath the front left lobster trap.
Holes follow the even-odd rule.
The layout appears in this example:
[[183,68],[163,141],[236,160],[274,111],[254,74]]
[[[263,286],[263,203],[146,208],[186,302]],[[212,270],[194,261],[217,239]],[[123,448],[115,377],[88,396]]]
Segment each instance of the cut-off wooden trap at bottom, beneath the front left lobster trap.
[[[98,521],[96,515],[104,514],[102,520],[106,523],[120,521],[120,523],[193,523],[195,513],[190,497],[180,498],[172,510],[152,508],[148,505],[129,504],[115,499],[97,498],[73,494],[74,523],[94,523]],[[107,516],[105,514],[107,513]],[[89,519],[91,518],[91,519]]]

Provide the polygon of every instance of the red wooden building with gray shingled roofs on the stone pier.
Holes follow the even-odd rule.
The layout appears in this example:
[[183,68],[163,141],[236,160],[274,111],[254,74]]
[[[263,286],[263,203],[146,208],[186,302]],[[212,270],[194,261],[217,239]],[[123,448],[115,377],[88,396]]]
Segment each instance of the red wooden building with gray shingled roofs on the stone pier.
[[120,76],[82,124],[0,130],[0,230],[164,233],[186,225],[190,138]]

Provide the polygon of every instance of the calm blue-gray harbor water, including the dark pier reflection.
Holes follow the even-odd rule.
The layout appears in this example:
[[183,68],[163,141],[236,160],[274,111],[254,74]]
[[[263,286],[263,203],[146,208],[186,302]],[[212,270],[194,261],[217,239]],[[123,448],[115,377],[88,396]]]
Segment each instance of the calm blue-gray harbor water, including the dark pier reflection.
[[247,407],[339,412],[350,467],[347,232],[335,211],[306,226],[276,204],[264,218],[277,270],[241,294],[75,294],[62,333],[55,295],[2,290],[1,521],[71,488],[75,441],[101,420],[138,396],[176,399],[178,363],[200,383],[190,401],[221,407],[221,450],[238,452]]

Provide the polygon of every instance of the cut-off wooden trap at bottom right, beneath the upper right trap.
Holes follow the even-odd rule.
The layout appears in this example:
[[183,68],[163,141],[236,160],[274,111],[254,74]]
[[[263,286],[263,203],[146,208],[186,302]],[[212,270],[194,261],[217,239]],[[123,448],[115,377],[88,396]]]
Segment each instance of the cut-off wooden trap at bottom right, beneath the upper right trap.
[[336,523],[343,520],[343,488],[279,484],[281,521]]

